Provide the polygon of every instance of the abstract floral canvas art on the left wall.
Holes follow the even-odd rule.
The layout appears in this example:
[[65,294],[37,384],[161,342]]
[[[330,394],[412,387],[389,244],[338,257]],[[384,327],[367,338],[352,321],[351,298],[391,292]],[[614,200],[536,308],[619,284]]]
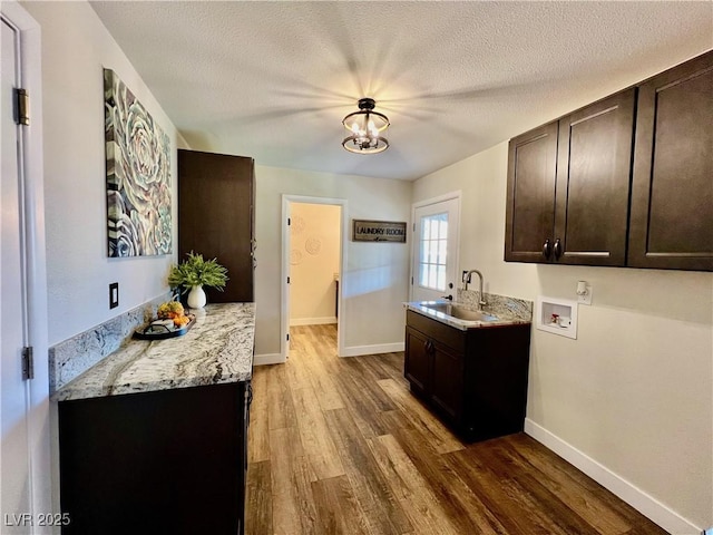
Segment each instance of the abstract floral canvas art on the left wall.
[[168,136],[109,69],[104,109],[109,256],[170,253]]

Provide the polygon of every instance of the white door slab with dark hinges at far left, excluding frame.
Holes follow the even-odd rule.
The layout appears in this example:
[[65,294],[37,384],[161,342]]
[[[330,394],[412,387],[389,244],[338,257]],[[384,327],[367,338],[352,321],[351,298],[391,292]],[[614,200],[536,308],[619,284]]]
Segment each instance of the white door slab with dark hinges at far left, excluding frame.
[[22,212],[18,166],[17,33],[2,23],[2,176],[0,177],[0,533],[30,533],[32,510],[28,440],[29,385],[22,380],[21,354],[27,344],[26,281],[21,235]]

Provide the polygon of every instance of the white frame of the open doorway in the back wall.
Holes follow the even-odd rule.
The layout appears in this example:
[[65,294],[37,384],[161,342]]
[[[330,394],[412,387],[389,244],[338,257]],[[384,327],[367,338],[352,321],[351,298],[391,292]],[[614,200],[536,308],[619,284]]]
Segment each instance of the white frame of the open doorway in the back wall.
[[344,294],[344,284],[346,282],[346,242],[349,240],[349,213],[345,198],[333,197],[313,197],[305,195],[282,195],[282,270],[281,276],[281,314],[280,314],[280,362],[286,362],[290,357],[290,342],[287,334],[290,333],[290,284],[287,283],[287,276],[290,276],[290,226],[287,225],[287,217],[290,216],[290,207],[292,203],[302,204],[325,204],[338,205],[341,207],[341,233],[340,233],[340,273],[339,273],[339,292],[336,294],[336,354],[341,357],[344,354],[344,314],[346,311],[342,307],[342,295]]

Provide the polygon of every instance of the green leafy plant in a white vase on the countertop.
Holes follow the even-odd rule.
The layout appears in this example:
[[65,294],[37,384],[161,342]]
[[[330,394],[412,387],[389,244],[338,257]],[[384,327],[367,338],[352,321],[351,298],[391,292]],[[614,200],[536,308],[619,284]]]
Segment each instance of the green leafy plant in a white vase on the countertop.
[[228,280],[227,270],[218,264],[217,259],[204,260],[202,254],[193,251],[187,256],[187,260],[170,268],[168,284],[172,289],[183,286],[182,293],[188,291],[188,307],[202,309],[206,303],[203,286],[215,288],[222,292]]

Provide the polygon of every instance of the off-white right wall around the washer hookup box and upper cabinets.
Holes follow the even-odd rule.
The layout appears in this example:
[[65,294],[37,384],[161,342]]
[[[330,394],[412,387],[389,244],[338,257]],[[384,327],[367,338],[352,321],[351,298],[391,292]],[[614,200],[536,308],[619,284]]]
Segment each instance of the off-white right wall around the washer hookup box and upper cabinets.
[[413,202],[462,191],[460,268],[488,292],[576,299],[592,283],[577,340],[533,330],[530,428],[637,487],[672,533],[713,525],[713,273],[504,262],[507,149],[421,178]]

